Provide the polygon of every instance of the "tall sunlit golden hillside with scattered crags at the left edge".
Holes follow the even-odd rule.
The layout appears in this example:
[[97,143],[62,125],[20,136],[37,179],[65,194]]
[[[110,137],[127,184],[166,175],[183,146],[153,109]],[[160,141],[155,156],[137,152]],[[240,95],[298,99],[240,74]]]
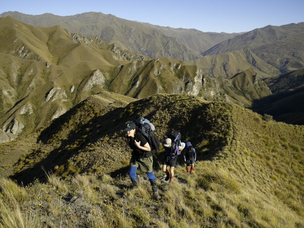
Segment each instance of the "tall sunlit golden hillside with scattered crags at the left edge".
[[59,26],[30,26],[9,16],[0,19],[0,31],[1,128],[15,136],[107,89],[116,66],[149,59],[99,38],[89,40]]

